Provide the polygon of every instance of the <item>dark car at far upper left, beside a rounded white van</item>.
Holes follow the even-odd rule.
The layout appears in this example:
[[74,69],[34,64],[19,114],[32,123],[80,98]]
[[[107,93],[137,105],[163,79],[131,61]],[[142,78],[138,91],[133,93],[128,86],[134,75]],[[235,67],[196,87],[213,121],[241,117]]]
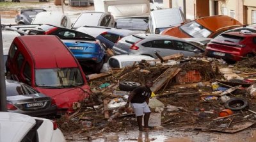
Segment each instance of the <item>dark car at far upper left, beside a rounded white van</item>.
[[35,18],[36,14],[40,12],[46,12],[44,9],[27,9],[27,10],[20,10],[15,17],[15,22],[17,24],[31,24],[32,20]]

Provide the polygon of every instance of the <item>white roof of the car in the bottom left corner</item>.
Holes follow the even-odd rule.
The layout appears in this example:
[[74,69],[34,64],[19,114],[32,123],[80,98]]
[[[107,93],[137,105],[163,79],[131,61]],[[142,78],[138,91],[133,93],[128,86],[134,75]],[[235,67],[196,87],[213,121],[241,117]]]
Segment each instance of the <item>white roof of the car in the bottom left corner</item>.
[[25,114],[0,112],[1,141],[20,141],[35,123],[35,118]]

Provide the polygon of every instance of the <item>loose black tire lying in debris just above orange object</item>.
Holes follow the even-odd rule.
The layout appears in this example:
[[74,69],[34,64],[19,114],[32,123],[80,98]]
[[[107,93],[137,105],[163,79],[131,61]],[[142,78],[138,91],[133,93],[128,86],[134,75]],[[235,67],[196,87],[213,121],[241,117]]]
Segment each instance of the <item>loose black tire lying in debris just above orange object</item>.
[[[241,105],[237,106],[238,104],[241,104]],[[227,102],[225,102],[225,107],[232,111],[240,111],[243,109],[247,109],[247,106],[248,106],[248,101],[242,98],[232,98],[227,100]]]

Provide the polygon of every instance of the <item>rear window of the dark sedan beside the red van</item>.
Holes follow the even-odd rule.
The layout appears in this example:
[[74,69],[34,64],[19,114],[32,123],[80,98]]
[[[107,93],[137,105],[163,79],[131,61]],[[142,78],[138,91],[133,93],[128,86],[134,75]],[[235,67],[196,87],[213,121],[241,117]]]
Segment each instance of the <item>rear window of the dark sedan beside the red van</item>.
[[29,95],[29,94],[35,94],[38,93],[36,90],[33,90],[30,86],[26,84],[8,84],[6,86],[6,96],[17,96],[17,95]]

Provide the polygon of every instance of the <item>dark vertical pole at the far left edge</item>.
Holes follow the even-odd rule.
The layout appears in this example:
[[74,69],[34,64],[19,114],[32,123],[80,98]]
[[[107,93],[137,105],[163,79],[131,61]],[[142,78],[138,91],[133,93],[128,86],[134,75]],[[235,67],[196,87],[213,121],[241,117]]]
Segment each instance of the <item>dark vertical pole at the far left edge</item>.
[[7,111],[1,15],[0,15],[0,111]]

